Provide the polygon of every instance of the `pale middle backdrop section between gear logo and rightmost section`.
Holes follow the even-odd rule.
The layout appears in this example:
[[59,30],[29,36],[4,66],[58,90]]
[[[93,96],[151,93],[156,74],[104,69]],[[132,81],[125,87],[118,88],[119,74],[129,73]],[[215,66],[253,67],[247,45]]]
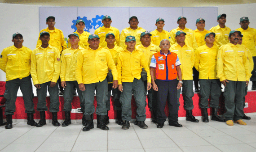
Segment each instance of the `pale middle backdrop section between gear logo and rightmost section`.
[[177,18],[182,15],[182,8],[145,7],[130,8],[130,17],[136,16],[140,27],[151,32],[156,29],[155,21],[159,17],[164,19],[163,30],[170,31],[177,28]]

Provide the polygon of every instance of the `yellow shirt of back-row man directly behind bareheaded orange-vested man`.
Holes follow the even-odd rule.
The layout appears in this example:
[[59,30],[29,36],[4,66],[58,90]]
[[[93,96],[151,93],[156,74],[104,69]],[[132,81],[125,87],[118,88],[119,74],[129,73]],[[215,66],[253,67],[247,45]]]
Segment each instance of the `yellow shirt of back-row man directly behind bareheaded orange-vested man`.
[[156,46],[160,45],[160,42],[163,39],[168,39],[169,38],[169,34],[170,32],[163,30],[162,32],[159,32],[158,30],[153,30],[152,32],[150,32],[150,34],[152,34],[151,36],[151,43],[153,43]]

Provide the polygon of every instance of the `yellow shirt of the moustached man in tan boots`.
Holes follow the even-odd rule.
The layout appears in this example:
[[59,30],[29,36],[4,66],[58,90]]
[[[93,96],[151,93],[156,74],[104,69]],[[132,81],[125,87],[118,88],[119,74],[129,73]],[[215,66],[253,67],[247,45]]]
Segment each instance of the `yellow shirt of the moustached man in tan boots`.
[[217,57],[217,77],[220,81],[249,81],[252,74],[245,47],[232,43],[222,45]]

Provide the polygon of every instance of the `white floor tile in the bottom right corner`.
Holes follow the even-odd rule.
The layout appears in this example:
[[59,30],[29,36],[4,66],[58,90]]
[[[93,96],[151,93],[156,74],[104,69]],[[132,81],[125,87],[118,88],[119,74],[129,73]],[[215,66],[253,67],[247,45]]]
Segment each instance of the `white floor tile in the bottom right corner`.
[[256,152],[256,149],[247,144],[216,145],[222,152]]

